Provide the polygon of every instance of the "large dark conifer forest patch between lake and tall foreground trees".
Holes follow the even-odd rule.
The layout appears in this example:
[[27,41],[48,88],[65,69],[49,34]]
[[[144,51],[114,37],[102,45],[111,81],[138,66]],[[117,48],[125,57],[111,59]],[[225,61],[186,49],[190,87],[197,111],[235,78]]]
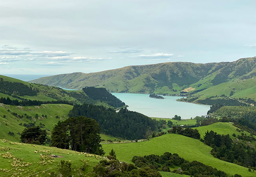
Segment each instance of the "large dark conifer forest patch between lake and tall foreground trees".
[[158,121],[126,108],[116,112],[103,106],[74,105],[69,116],[93,118],[98,122],[102,133],[130,140],[147,138],[147,132],[158,130]]

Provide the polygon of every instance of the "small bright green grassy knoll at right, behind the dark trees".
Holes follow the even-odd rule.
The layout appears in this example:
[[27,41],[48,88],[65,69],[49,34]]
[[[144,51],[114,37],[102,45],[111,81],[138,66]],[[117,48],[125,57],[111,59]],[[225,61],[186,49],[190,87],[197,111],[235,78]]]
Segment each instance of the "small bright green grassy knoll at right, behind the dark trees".
[[217,132],[220,135],[228,135],[229,134],[230,138],[232,138],[232,139],[235,138],[234,136],[232,136],[233,133],[235,133],[236,136],[241,135],[241,133],[245,133],[247,136],[250,135],[250,133],[248,133],[247,131],[244,131],[244,132],[236,131],[237,127],[235,127],[232,122],[216,122],[211,125],[195,127],[193,129],[198,130],[198,132],[201,135],[201,138],[203,138],[203,136],[205,135],[205,133],[207,131],[211,131],[211,130]]

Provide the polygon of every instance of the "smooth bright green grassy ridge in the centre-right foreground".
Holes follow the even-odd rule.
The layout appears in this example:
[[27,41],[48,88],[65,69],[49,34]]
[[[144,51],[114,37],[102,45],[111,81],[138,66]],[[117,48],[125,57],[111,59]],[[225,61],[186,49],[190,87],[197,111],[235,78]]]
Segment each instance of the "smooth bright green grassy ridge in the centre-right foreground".
[[146,142],[103,144],[104,151],[108,154],[113,148],[117,159],[131,162],[134,155],[144,156],[150,154],[162,155],[168,151],[178,153],[186,160],[198,160],[206,165],[225,171],[228,175],[241,174],[244,177],[256,176],[256,172],[249,172],[247,168],[214,158],[211,147],[199,140],[177,134],[167,134]]

